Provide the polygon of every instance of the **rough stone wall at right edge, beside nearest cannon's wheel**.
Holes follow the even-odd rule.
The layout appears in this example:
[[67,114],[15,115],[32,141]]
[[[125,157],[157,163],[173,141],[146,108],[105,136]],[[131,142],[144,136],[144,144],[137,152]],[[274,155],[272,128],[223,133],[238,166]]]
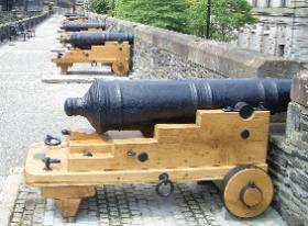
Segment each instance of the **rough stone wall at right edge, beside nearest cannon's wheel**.
[[293,226],[308,225],[308,71],[294,79],[285,136],[272,136],[273,205]]

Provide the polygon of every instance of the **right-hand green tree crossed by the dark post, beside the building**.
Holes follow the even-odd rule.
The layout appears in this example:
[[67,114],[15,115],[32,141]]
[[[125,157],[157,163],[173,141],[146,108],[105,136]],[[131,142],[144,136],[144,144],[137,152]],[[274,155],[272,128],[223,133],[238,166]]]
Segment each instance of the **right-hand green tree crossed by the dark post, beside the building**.
[[[191,34],[205,34],[207,18],[207,0],[188,0],[188,30]],[[246,0],[212,0],[211,37],[228,42],[235,37],[234,31],[257,22],[251,14],[251,5]]]

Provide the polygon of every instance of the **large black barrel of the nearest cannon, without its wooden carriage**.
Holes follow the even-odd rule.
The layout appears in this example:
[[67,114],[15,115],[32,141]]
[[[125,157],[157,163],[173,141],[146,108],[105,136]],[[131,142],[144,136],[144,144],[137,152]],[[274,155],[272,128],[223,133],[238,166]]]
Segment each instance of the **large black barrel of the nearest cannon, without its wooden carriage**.
[[286,111],[290,79],[96,80],[82,98],[67,99],[68,116],[88,118],[101,134],[194,123],[196,111],[246,102],[272,113]]

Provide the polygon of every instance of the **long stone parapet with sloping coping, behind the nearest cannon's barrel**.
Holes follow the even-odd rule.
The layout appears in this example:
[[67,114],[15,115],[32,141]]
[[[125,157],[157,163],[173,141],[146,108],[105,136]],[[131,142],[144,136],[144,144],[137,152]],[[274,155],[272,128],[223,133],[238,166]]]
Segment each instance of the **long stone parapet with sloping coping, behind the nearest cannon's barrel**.
[[263,55],[163,29],[86,13],[111,31],[134,34],[133,70],[138,78],[292,77],[302,67]]

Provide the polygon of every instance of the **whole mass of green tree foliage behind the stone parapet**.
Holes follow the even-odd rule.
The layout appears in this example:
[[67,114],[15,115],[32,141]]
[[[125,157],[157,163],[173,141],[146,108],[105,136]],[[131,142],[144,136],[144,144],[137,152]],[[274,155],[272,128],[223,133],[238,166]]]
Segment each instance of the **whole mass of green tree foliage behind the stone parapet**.
[[[246,0],[212,0],[211,37],[230,41],[234,31],[255,23]],[[177,32],[204,36],[207,0],[90,0],[90,10]]]

